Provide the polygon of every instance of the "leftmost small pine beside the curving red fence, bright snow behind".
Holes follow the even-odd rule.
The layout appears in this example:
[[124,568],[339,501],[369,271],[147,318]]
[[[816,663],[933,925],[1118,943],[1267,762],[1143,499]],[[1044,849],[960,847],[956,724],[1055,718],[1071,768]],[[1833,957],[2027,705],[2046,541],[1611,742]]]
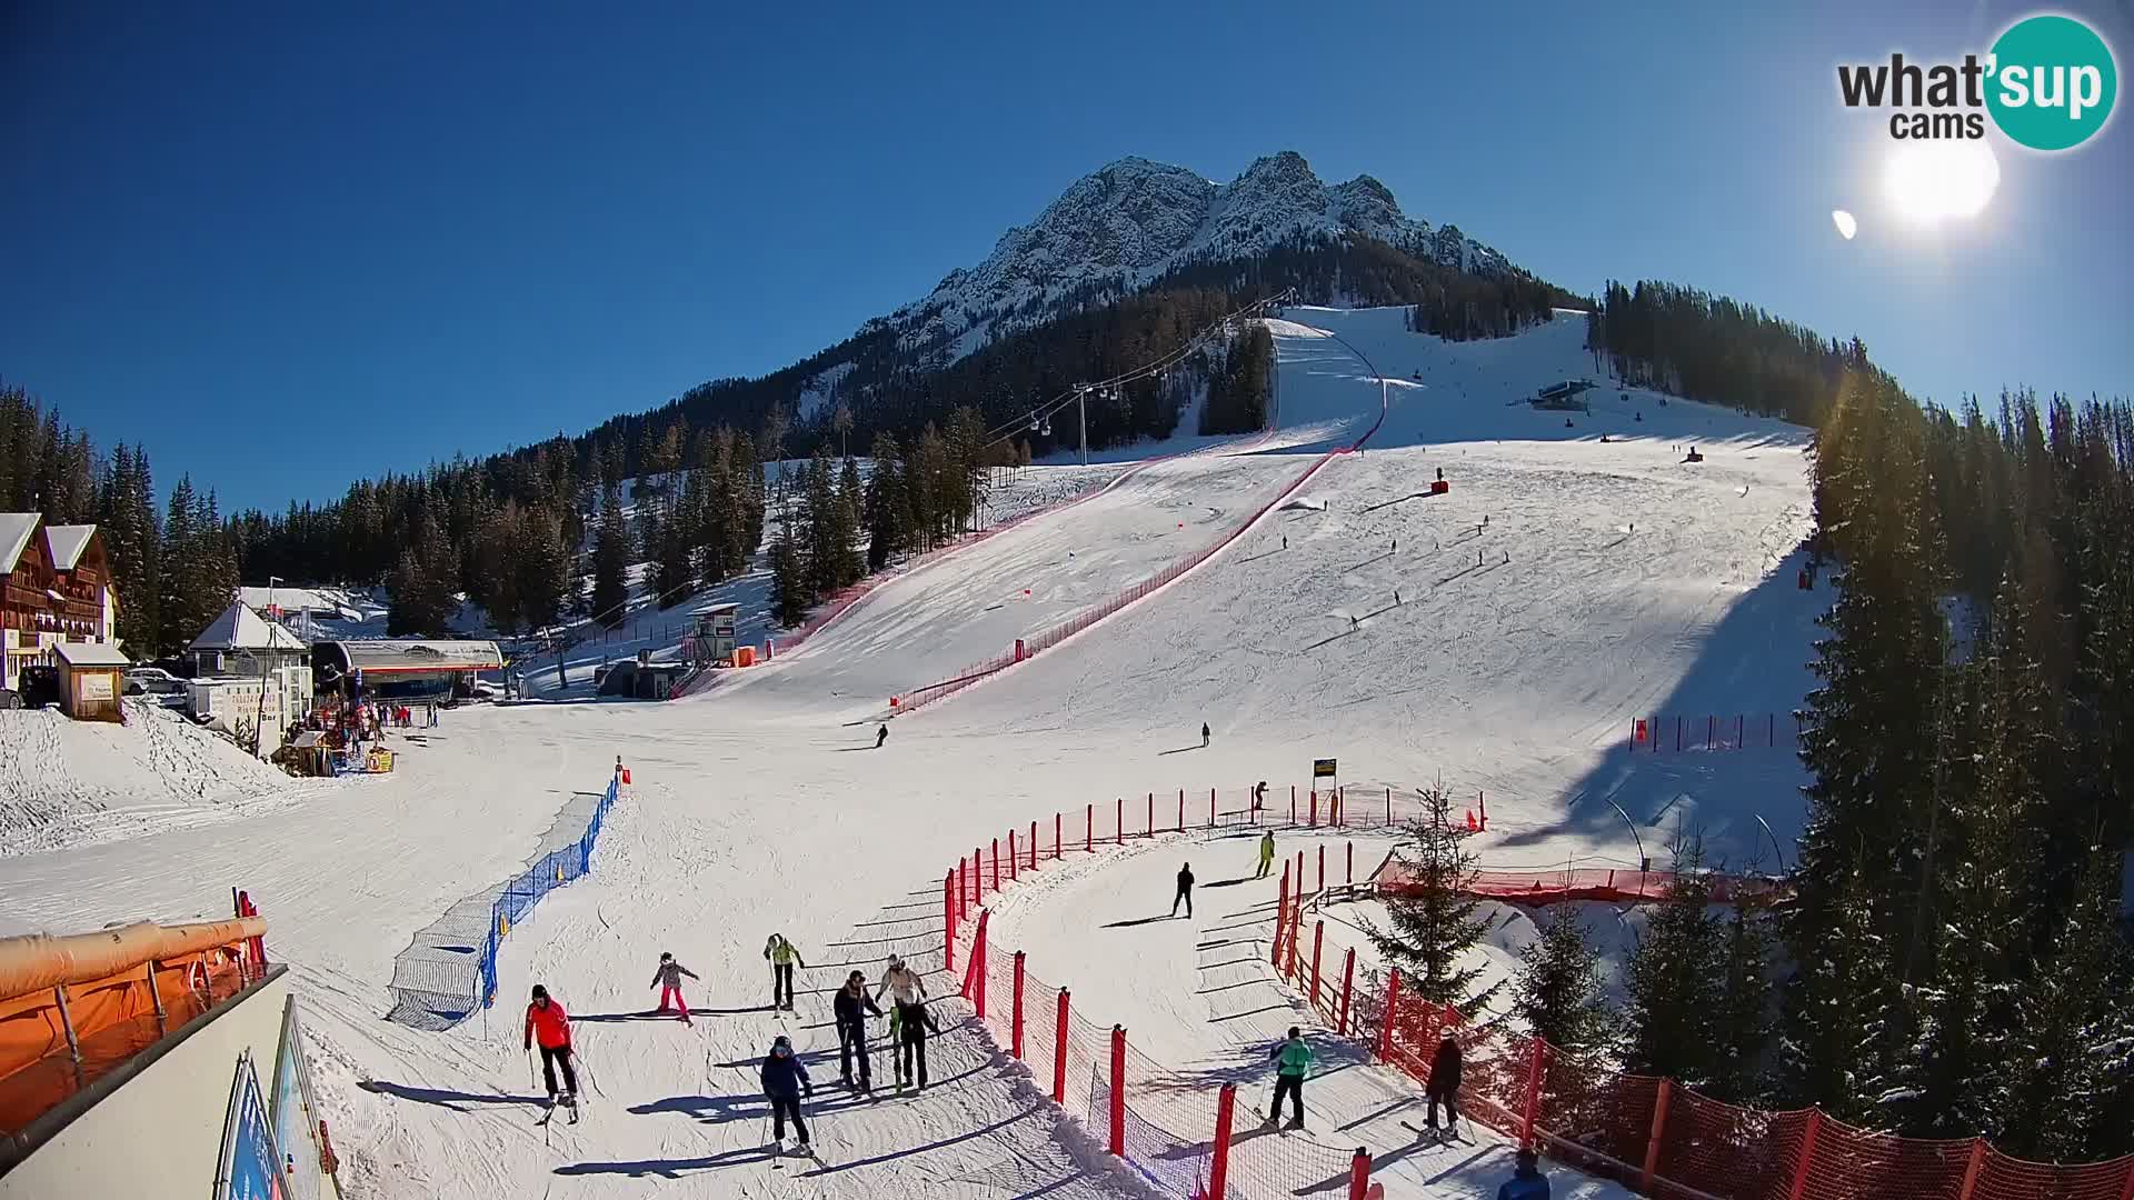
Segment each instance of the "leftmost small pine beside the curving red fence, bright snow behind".
[[1406,824],[1406,841],[1394,850],[1404,886],[1385,899],[1389,929],[1372,929],[1379,952],[1402,972],[1402,986],[1430,1004],[1451,1004],[1475,1016],[1502,986],[1477,989],[1483,967],[1470,952],[1490,931],[1472,899],[1479,858],[1466,848],[1472,837],[1451,820],[1443,788],[1423,794],[1423,814]]

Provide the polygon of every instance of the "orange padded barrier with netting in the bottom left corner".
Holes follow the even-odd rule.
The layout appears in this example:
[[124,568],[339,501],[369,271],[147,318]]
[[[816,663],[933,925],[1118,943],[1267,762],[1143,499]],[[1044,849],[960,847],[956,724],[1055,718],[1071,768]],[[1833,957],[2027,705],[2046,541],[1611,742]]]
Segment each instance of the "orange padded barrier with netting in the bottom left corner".
[[265,920],[241,918],[0,940],[0,1132],[28,1127],[256,982],[252,940],[265,931]]

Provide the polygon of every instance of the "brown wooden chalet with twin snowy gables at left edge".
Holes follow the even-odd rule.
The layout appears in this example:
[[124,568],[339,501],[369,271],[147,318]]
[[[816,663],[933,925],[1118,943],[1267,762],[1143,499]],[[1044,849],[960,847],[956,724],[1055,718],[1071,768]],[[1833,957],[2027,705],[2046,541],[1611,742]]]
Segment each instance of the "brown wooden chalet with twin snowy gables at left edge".
[[38,512],[0,512],[0,688],[21,668],[53,664],[60,643],[109,643],[117,594],[96,525],[47,525]]

